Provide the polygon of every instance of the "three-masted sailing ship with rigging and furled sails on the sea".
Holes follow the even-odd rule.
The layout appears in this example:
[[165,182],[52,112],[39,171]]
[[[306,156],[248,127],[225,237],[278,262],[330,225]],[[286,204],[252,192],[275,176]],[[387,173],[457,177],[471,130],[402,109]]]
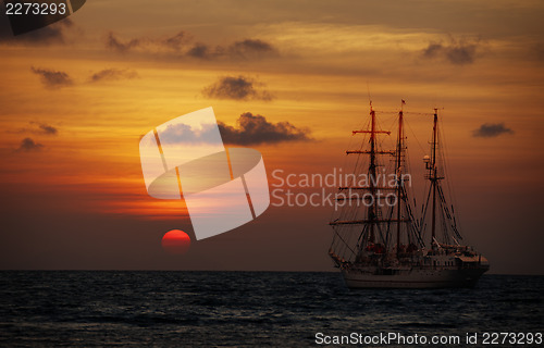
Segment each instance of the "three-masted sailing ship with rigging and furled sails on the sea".
[[[454,206],[444,188],[447,182],[437,109],[428,114],[433,115],[430,154],[423,158],[428,189],[417,217],[404,104],[403,100],[394,149],[383,149],[382,136],[391,132],[379,127],[372,102],[367,127],[353,132],[363,139],[359,149],[346,151],[355,157],[354,175],[338,188],[336,199],[343,204],[330,222],[334,237],[329,254],[349,288],[473,287],[490,264],[472,247],[461,244]],[[382,179],[383,175],[393,179]]]

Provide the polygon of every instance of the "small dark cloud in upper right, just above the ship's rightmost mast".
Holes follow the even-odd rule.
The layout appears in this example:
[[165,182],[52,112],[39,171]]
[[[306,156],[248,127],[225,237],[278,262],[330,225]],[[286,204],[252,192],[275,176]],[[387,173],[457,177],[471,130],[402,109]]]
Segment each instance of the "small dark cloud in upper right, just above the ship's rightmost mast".
[[478,40],[467,41],[450,38],[449,44],[429,42],[422,55],[426,59],[441,58],[452,64],[465,65],[474,62],[478,47]]

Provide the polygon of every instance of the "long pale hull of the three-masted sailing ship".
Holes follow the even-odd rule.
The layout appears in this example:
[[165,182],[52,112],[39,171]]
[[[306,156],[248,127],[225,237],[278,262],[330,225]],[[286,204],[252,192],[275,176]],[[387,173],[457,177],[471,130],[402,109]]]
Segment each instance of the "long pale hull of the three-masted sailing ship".
[[409,269],[395,274],[376,274],[370,270],[342,270],[349,288],[459,288],[474,287],[489,268],[472,269]]

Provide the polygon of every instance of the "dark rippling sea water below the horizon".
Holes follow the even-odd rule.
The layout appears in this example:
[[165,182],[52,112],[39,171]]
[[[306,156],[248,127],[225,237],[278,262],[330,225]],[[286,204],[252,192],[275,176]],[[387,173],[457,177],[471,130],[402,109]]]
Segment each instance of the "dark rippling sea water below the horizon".
[[472,289],[349,290],[326,272],[2,271],[0,345],[408,345],[371,341],[394,334],[474,347],[485,333],[543,333],[543,294],[544,276],[521,275],[483,275]]

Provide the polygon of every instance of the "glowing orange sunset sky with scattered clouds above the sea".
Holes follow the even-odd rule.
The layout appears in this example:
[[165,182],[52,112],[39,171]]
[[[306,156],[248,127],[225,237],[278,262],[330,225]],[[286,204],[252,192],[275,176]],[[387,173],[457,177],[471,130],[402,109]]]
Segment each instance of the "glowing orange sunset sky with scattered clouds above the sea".
[[138,144],[212,107],[270,184],[331,173],[370,95],[391,130],[406,100],[419,176],[440,109],[466,240],[492,273],[544,274],[543,16],[542,1],[92,0],[13,37],[2,14],[0,268],[332,271],[330,207],[270,207],[164,252],[191,224],[147,195]]

